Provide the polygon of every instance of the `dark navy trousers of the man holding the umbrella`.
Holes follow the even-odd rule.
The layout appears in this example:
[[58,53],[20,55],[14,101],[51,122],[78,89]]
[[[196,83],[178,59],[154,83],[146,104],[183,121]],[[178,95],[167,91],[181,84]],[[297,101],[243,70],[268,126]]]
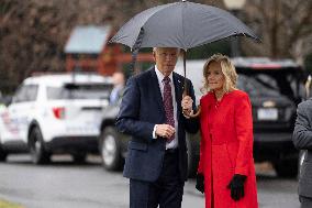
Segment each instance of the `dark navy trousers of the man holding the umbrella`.
[[180,208],[185,182],[180,179],[178,151],[166,151],[156,182],[130,179],[130,208]]

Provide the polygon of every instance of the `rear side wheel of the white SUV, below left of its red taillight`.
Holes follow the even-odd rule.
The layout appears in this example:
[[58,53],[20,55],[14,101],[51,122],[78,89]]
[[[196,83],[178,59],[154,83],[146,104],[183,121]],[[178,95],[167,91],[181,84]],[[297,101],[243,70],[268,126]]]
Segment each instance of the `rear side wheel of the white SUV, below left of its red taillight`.
[[49,154],[44,149],[41,130],[35,127],[30,133],[30,151],[34,164],[45,164],[49,162]]

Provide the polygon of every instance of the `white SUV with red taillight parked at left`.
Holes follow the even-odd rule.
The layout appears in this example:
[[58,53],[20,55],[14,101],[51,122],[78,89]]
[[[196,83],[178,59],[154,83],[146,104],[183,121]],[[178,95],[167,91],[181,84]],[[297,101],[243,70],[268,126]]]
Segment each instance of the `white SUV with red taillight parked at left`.
[[0,161],[31,152],[33,163],[69,153],[83,162],[98,151],[101,111],[112,81],[96,74],[42,75],[26,78],[12,102],[0,110]]

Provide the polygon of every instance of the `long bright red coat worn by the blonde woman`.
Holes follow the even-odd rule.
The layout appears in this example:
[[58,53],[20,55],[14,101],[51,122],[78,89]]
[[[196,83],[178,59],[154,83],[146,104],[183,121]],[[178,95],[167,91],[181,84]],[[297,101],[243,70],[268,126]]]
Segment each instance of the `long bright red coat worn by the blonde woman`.
[[[205,208],[258,208],[252,105],[247,94],[234,90],[216,101],[214,94],[209,92],[200,105],[198,173],[204,175]],[[245,197],[238,201],[231,198],[231,190],[226,188],[234,174],[247,176]]]

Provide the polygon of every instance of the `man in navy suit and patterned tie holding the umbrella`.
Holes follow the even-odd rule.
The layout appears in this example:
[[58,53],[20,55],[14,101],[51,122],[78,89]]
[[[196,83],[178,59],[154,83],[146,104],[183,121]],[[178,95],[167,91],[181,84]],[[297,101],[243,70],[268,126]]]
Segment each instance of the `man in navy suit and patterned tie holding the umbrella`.
[[179,208],[187,179],[186,131],[196,133],[197,119],[190,80],[182,98],[183,77],[174,73],[178,48],[153,50],[155,67],[129,79],[116,127],[132,135],[124,176],[130,178],[131,208]]

